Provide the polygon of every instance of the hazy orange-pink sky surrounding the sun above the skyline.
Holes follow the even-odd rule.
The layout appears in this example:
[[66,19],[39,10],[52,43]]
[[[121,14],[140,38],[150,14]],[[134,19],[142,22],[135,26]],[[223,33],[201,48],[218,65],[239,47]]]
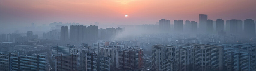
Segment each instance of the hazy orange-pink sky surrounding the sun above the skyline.
[[[124,17],[128,14],[128,17]],[[256,20],[256,0],[1,0],[0,24],[99,22],[108,25],[156,24],[159,19]],[[173,22],[171,22],[173,23]]]

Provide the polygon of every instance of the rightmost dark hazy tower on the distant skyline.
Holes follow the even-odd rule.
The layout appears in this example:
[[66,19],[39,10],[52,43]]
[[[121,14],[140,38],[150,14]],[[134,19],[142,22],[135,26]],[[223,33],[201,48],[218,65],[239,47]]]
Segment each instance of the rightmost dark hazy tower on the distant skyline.
[[254,20],[252,19],[246,19],[244,20],[244,32],[245,35],[247,36],[253,36],[254,35],[254,30],[255,30],[255,24],[254,24]]

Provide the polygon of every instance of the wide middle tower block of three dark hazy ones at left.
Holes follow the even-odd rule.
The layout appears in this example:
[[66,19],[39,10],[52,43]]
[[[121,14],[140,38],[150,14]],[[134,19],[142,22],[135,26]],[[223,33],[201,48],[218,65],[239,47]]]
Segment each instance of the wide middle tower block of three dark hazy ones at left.
[[86,26],[70,25],[70,40],[75,42],[83,42],[86,40]]

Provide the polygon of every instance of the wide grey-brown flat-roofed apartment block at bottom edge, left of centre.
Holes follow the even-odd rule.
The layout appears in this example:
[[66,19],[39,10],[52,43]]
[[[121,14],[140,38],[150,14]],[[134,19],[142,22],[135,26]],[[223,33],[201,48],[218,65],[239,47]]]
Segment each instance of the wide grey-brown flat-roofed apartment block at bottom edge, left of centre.
[[78,54],[58,54],[55,56],[55,71],[77,71]]

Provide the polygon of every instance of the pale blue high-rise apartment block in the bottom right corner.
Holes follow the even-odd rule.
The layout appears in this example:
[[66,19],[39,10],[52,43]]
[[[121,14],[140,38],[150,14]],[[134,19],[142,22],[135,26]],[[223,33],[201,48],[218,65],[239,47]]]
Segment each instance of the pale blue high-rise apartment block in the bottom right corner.
[[255,51],[228,50],[227,71],[253,71],[255,70]]

